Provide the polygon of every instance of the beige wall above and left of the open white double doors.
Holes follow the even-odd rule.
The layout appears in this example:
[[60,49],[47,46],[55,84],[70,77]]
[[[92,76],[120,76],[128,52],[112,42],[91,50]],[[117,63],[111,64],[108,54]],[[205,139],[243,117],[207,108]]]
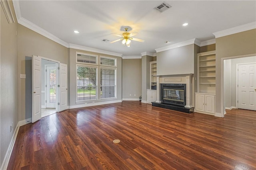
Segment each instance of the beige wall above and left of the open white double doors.
[[[68,48],[18,24],[18,75],[25,74],[25,57],[32,55],[68,64]],[[25,79],[18,78],[19,121],[31,117],[25,116],[25,86]]]

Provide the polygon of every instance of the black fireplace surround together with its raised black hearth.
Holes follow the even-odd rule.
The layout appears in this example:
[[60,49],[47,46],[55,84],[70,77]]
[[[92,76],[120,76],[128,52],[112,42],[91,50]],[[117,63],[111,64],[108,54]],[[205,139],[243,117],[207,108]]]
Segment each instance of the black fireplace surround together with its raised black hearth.
[[194,107],[186,106],[186,84],[160,84],[161,103],[152,102],[152,106],[162,107],[185,113],[193,113]]

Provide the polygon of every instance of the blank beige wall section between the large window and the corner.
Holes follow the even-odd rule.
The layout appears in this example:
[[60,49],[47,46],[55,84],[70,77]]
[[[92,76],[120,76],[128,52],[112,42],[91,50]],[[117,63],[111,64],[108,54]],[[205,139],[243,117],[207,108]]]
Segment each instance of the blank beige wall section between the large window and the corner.
[[[123,59],[123,98],[139,100],[142,82],[141,59]],[[131,94],[131,96],[130,96]],[[134,94],[136,96],[134,96]]]

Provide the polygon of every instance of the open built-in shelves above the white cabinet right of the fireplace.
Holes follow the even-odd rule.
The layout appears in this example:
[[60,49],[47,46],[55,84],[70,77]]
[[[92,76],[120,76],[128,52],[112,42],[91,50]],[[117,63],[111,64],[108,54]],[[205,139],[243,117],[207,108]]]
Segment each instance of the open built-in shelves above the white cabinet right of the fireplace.
[[198,53],[198,92],[215,93],[216,53],[208,51]]

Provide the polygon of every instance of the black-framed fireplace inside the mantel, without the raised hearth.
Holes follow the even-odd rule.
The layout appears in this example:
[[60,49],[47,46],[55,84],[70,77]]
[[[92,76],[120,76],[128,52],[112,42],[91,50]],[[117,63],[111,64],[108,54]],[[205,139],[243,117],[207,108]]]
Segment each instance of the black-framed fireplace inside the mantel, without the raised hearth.
[[163,104],[186,106],[186,84],[160,84],[160,97]]

